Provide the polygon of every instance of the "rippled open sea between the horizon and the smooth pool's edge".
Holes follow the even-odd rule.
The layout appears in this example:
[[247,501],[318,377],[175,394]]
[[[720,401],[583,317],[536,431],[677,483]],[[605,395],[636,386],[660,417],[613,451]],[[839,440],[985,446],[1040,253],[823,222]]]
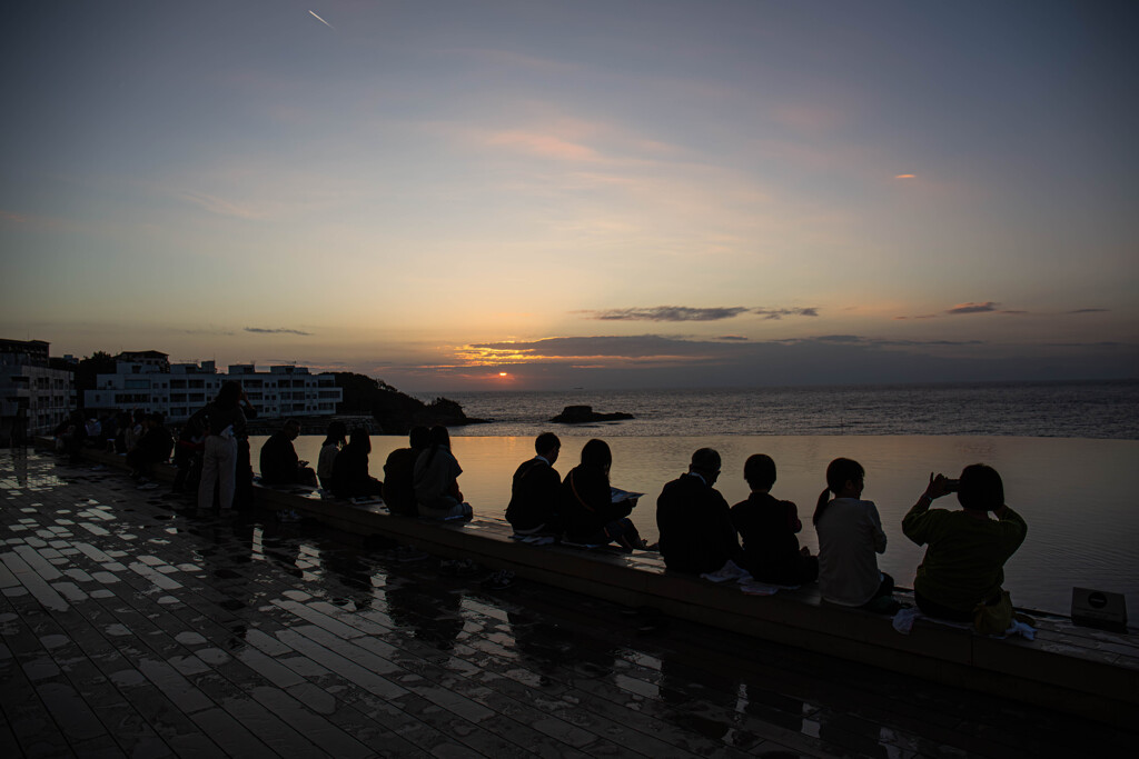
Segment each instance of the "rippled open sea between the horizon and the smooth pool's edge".
[[[490,424],[452,435],[1008,435],[1139,439],[1139,380],[737,390],[446,394]],[[550,424],[568,405],[631,413],[590,426]]]

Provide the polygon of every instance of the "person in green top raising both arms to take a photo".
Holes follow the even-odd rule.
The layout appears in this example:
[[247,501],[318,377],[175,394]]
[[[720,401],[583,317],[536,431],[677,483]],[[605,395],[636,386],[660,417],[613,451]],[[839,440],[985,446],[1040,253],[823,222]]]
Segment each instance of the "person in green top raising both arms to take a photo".
[[[960,511],[929,508],[954,490]],[[978,605],[999,603],[1005,562],[1027,529],[1006,505],[1005,485],[992,467],[966,467],[959,480],[931,473],[926,492],[902,519],[906,537],[928,546],[913,579],[918,609],[939,619],[972,621]]]

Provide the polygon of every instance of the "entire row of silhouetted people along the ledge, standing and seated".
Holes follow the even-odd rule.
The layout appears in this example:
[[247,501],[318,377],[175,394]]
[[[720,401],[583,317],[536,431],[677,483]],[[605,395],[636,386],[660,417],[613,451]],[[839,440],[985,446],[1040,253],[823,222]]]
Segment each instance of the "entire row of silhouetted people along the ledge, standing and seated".
[[[179,465],[174,489],[185,486],[189,471],[197,477],[197,503],[222,510],[235,505],[235,493],[248,490],[253,471],[246,420],[255,416],[240,386],[226,382],[218,397],[195,413],[183,427],[175,447]],[[65,449],[88,437],[79,416],[63,434]],[[141,419],[132,434],[139,444],[128,453],[146,476],[155,456],[170,453],[169,432],[162,420]],[[470,519],[458,477],[462,473],[451,453],[445,427],[417,427],[409,446],[393,451],[384,464],[384,480],[371,477],[368,457],[370,431],[333,421],[321,445],[318,467],[298,459],[293,442],[301,426],[287,420],[261,448],[261,482],[269,486],[321,487],[336,497],[376,500],[393,514],[432,520]],[[95,436],[100,432],[96,431]],[[141,445],[149,439],[150,444]],[[163,442],[163,445],[158,445]],[[140,447],[141,445],[141,447]],[[158,448],[163,448],[165,454]],[[581,546],[615,545],[622,551],[659,551],[670,571],[715,576],[748,575],[777,587],[818,583],[829,603],[893,613],[894,580],[880,571],[877,554],[886,550],[886,534],[872,501],[862,500],[865,471],[857,461],[835,459],[827,467],[827,487],[819,495],[811,521],[818,534],[819,553],[800,547],[802,530],[797,506],[771,495],[776,464],[755,454],[744,464],[751,489],[734,506],[715,489],[720,454],[699,448],[688,471],[664,485],[656,501],[659,543],[647,545],[629,514],[639,494],[609,484],[613,454],[609,446],[591,439],[581,449],[580,463],[562,477],[554,468],[562,443],[552,432],[534,440],[535,455],[514,475],[507,521],[514,537],[527,542]],[[960,510],[932,509],[950,493]],[[244,496],[239,498],[238,505]],[[978,625],[993,617],[999,625],[1011,614],[1002,583],[1005,562],[1024,542],[1024,519],[1005,503],[1000,475],[985,464],[966,467],[959,479],[931,475],[929,484],[902,520],[903,534],[926,545],[913,581],[915,600],[929,617]],[[1003,628],[1001,628],[1003,629]]]

